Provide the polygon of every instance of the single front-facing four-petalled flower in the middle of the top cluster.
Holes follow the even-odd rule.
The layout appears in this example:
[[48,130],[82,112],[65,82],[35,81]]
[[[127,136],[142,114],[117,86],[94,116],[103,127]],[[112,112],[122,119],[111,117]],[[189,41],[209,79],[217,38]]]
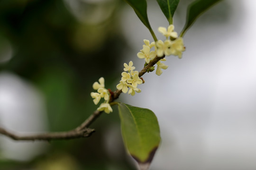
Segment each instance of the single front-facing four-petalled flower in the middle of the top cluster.
[[162,57],[164,54],[166,56],[169,56],[172,54],[171,51],[171,45],[172,45],[172,41],[171,40],[165,40],[165,42],[163,42],[162,40],[158,40],[155,43],[156,46],[156,55],[158,57]]

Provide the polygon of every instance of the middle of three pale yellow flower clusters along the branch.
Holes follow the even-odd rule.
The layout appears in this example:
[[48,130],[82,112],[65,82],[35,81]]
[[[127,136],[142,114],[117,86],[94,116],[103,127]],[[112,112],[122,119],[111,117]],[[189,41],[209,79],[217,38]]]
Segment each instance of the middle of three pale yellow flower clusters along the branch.
[[[124,71],[122,72],[122,78],[117,85],[117,89],[122,90],[123,93],[127,93],[134,95],[135,92],[140,93],[141,90],[137,88],[137,85],[142,84],[142,80],[138,76],[138,71],[134,71],[135,67],[133,66],[133,62],[130,61],[129,65],[124,63]],[[128,91],[128,87],[130,88]]]

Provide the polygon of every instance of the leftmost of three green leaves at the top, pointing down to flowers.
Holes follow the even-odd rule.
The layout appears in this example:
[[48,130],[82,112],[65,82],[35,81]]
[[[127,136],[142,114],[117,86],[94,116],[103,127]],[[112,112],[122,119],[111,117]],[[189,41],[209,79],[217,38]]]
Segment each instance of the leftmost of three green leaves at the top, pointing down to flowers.
[[146,13],[146,0],[124,0],[126,1],[135,11],[141,22],[148,28],[154,40],[157,41],[154,31],[152,30]]

